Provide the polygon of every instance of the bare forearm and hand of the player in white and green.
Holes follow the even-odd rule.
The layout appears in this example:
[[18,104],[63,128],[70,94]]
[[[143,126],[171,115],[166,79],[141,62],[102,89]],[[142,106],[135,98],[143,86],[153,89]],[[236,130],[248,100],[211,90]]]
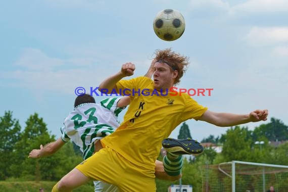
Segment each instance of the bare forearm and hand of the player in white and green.
[[39,150],[36,150],[36,149],[32,150],[29,153],[28,157],[41,158],[41,157],[51,156],[55,152],[57,152],[62,146],[64,146],[65,143],[66,142],[64,142],[62,140],[62,138],[60,137],[56,141],[46,144],[44,147],[42,145],[40,145],[40,149]]

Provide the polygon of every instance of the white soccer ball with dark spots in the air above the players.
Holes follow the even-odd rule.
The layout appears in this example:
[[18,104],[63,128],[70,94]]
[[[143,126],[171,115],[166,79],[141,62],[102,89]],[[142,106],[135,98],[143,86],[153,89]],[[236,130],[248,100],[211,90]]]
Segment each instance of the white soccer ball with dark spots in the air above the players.
[[176,40],[184,33],[185,20],[180,12],[165,9],[155,17],[153,29],[156,35],[163,40]]

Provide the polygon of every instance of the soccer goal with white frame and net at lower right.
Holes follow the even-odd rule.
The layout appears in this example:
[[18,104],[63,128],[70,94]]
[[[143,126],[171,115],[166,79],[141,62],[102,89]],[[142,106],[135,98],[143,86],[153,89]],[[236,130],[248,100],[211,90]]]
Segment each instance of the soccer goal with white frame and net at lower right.
[[201,167],[203,192],[288,191],[288,166],[232,161]]

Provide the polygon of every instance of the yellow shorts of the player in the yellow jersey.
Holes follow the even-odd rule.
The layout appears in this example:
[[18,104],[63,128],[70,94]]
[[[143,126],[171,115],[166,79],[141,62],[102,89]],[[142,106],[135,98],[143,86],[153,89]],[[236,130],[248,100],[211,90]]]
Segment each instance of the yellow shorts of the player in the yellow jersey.
[[77,165],[76,169],[93,180],[114,184],[120,191],[156,191],[155,170],[135,165],[108,147]]

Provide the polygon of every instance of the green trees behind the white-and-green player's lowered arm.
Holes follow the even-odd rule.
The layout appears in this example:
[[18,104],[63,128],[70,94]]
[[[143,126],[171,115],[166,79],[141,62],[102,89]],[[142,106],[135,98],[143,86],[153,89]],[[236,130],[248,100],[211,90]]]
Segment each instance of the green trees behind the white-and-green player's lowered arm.
[[59,180],[82,161],[81,156],[74,153],[72,142],[67,143],[56,154],[41,158],[27,158],[33,149],[55,141],[50,135],[46,124],[38,114],[31,115],[26,121],[26,127],[15,144],[15,159],[11,160],[12,176],[25,180]]

